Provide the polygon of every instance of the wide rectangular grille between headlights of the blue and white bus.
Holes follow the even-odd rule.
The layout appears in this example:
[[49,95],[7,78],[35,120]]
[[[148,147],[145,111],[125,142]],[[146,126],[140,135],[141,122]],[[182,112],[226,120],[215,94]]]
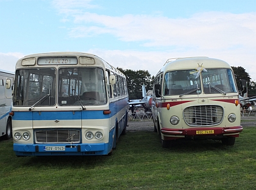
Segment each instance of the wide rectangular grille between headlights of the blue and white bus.
[[36,143],[80,143],[79,130],[37,130]]

